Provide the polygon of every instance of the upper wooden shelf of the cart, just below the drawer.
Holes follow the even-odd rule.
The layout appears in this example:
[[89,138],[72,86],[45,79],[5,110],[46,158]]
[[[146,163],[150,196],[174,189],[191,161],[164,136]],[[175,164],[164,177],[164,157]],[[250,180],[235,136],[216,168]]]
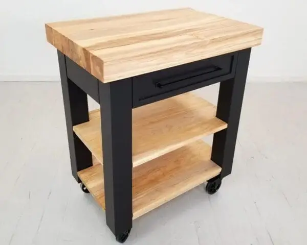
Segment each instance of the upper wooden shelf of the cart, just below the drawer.
[[[133,166],[227,128],[215,117],[216,107],[191,93],[133,110]],[[90,120],[74,126],[74,132],[102,163],[100,110]]]

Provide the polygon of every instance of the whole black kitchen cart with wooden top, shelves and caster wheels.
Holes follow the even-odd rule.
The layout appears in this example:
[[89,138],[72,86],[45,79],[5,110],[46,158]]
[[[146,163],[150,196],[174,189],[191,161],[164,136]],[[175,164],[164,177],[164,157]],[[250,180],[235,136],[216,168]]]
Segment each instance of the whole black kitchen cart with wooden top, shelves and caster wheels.
[[[119,242],[133,219],[206,181],[213,194],[231,173],[251,47],[262,32],[192,9],[46,24],[72,174]],[[190,92],[218,82],[217,106]],[[87,95],[100,110],[89,112]],[[210,134],[212,147],[201,140]]]

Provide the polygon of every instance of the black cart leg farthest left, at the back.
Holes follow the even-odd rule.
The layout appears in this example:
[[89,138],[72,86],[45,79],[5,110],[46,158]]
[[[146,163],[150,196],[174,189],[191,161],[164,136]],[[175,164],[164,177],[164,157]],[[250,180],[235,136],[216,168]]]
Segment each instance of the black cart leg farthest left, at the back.
[[92,154],[73,132],[73,126],[89,120],[86,93],[67,77],[65,56],[58,51],[64,110],[67,126],[72,174],[79,183],[77,172],[92,166]]

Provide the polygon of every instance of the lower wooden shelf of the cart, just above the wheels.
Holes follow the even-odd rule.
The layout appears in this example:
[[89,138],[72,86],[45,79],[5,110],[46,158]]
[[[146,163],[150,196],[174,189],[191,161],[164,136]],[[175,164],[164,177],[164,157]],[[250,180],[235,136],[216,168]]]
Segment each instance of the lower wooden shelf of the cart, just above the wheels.
[[[133,218],[217,176],[221,167],[210,160],[211,147],[198,140],[133,169]],[[95,164],[78,176],[105,209],[103,166]]]

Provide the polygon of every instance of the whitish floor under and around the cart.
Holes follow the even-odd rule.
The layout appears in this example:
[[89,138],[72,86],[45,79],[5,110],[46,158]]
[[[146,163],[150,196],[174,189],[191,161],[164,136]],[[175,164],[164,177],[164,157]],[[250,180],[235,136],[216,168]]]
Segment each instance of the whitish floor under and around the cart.
[[[0,83],[0,115],[0,244],[118,244],[71,177],[60,84]],[[307,244],[306,127],[307,83],[248,84],[220,191],[138,218],[125,244]]]

